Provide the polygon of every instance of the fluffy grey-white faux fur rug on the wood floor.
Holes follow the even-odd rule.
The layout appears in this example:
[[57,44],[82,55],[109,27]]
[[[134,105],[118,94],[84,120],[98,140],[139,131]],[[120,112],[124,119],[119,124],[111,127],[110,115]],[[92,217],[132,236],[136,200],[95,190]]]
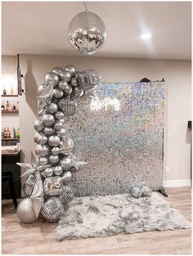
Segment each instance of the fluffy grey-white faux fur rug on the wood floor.
[[165,231],[190,228],[182,214],[163,196],[92,195],[77,197],[65,211],[57,227],[58,240],[112,236],[119,233]]

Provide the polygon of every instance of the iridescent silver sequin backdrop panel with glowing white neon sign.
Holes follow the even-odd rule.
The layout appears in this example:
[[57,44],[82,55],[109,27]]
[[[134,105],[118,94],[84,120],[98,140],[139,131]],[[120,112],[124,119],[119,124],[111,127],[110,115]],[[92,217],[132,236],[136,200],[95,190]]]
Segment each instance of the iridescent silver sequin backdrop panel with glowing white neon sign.
[[77,196],[127,193],[163,182],[164,83],[101,83],[66,118],[75,153],[88,160],[75,175]]

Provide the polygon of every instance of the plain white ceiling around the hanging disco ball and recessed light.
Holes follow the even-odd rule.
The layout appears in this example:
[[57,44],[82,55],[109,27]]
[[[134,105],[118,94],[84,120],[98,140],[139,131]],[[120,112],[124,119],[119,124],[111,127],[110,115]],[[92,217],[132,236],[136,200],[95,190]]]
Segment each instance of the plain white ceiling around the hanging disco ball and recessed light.
[[[105,22],[94,56],[191,60],[191,2],[87,2]],[[83,2],[2,2],[2,55],[81,56],[70,46],[70,20]],[[152,34],[142,40],[141,34]]]

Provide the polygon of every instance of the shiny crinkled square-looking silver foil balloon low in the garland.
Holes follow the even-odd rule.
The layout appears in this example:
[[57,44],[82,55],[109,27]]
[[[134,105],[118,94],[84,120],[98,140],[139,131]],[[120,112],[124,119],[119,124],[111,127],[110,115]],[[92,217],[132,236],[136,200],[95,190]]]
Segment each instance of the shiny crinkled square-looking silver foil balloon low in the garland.
[[60,176],[46,177],[43,182],[43,190],[46,195],[61,195],[63,181]]

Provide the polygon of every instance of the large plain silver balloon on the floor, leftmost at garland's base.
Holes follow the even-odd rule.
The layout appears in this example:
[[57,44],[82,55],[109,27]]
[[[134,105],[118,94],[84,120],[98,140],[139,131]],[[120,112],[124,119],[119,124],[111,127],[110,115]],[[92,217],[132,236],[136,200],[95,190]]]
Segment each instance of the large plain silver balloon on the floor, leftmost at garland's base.
[[32,200],[27,197],[20,201],[16,209],[17,217],[21,222],[31,223],[36,219]]

